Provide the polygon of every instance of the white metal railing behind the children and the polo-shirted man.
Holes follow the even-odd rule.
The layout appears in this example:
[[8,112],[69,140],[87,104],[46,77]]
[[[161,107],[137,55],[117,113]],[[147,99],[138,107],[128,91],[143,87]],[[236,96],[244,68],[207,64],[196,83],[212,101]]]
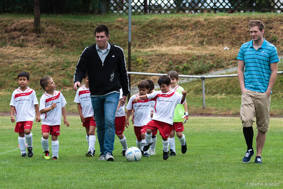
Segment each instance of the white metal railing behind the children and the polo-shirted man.
[[[129,75],[146,75],[146,76],[162,76],[166,74],[157,74],[157,73],[146,73],[146,72],[132,72],[128,71]],[[283,71],[277,71],[277,74],[283,74]],[[214,75],[214,76],[194,76],[194,75],[179,75],[182,78],[195,78],[202,80],[202,92],[203,92],[203,109],[205,109],[205,87],[204,87],[204,79],[210,78],[222,78],[222,77],[237,77],[238,74],[226,74],[226,75]]]

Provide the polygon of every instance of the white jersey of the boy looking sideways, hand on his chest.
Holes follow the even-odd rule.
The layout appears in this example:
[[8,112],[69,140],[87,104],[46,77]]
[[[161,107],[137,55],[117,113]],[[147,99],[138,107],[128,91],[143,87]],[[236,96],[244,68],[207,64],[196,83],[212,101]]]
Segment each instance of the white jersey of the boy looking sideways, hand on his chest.
[[49,108],[52,103],[56,103],[57,107],[47,113],[40,115],[42,125],[61,125],[62,107],[67,104],[62,93],[54,90],[53,96],[47,94],[46,92],[42,94],[40,98],[39,110]]

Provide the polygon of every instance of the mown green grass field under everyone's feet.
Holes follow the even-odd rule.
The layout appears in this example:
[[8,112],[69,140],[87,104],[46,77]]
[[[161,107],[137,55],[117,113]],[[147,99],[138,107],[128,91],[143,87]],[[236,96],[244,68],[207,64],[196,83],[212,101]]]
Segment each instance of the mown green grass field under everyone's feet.
[[[114,162],[97,160],[98,141],[96,155],[85,157],[88,147],[80,118],[67,118],[70,127],[61,125],[60,159],[54,161],[43,158],[40,123],[34,122],[32,129],[34,156],[21,158],[15,123],[11,123],[9,116],[0,117],[0,188],[251,188],[253,183],[279,183],[261,188],[282,188],[283,185],[282,118],[270,119],[263,164],[255,164],[255,157],[248,164],[242,163],[246,144],[238,117],[190,117],[184,131],[186,154],[181,154],[176,139],[177,155],[163,160],[162,139],[157,136],[157,155],[139,162],[127,162],[121,156],[117,137]],[[125,128],[124,134],[128,147],[136,146],[132,125]],[[51,150],[50,140],[49,146]]]

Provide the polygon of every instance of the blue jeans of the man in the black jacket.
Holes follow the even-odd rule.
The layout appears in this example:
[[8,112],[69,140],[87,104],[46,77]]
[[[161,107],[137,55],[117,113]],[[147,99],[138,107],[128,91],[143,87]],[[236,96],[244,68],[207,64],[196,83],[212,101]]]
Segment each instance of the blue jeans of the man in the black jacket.
[[91,97],[100,155],[110,153],[114,149],[115,114],[120,93],[113,92],[104,96]]

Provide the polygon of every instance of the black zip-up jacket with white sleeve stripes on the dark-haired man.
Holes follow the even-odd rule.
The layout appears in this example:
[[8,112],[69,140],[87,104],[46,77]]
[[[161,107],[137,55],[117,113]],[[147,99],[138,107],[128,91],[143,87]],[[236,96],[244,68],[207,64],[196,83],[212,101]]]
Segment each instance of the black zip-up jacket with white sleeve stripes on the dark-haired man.
[[129,79],[123,49],[110,44],[110,50],[102,63],[96,44],[83,51],[76,66],[74,83],[81,82],[88,70],[88,84],[91,96],[102,96],[110,92],[120,92],[123,96],[129,94]]

